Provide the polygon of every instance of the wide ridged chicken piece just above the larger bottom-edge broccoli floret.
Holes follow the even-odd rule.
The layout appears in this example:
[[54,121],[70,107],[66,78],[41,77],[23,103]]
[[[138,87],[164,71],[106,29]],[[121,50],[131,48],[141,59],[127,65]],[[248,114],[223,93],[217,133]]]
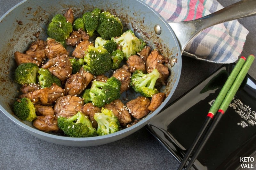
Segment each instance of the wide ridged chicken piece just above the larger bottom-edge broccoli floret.
[[78,111],[81,111],[84,105],[84,100],[76,96],[63,96],[56,100],[54,105],[54,113],[56,117],[72,117],[76,115]]

